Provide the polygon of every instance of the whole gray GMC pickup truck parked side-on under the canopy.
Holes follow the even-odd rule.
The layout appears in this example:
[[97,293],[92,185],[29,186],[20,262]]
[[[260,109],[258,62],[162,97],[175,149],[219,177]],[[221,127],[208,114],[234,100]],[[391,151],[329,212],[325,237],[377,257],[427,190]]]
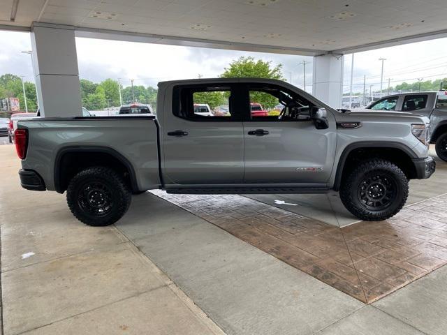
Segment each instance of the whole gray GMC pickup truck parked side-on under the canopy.
[[[229,112],[202,115],[209,97]],[[268,115],[251,103],[281,105]],[[64,193],[74,216],[110,225],[131,195],[325,193],[378,221],[406,202],[409,179],[428,178],[429,120],[402,112],[338,111],[291,84],[267,79],[159,83],[156,116],[21,121],[16,149],[24,188]]]

